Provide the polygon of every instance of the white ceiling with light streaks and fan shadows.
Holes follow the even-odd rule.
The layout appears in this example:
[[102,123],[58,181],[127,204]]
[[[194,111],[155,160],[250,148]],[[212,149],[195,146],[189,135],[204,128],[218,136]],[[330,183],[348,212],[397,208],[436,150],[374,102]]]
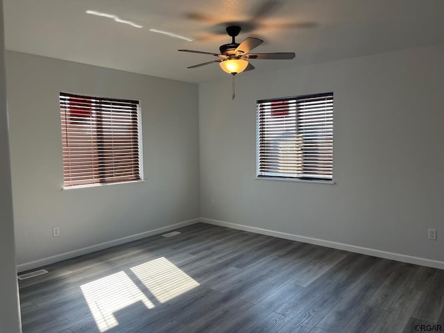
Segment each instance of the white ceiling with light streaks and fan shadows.
[[[271,6],[271,3],[278,3]],[[296,52],[294,60],[251,60],[255,71],[296,67],[444,43],[443,0],[3,0],[6,49],[192,83],[223,78],[214,60],[239,22],[264,44],[254,52]],[[265,6],[266,5],[266,6]],[[260,8],[273,7],[257,15]],[[87,10],[117,15],[137,28]],[[253,24],[251,20],[253,19]],[[286,28],[278,27],[287,24]],[[193,42],[154,33],[169,31]],[[244,73],[241,75],[248,75]]]

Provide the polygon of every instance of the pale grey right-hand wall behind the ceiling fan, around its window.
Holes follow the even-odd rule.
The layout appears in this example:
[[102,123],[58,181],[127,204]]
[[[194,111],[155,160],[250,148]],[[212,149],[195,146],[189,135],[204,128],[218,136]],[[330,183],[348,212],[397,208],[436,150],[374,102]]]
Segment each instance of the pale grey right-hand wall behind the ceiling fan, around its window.
[[[252,71],[234,101],[230,76],[201,84],[200,216],[443,262],[443,59],[432,46]],[[336,185],[255,180],[255,101],[321,92],[334,92]]]

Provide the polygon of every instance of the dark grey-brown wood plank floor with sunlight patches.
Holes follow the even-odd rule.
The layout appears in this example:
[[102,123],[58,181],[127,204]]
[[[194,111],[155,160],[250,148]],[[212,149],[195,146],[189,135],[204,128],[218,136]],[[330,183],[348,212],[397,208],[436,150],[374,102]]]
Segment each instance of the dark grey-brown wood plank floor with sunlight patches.
[[444,271],[205,223],[178,231],[19,282],[24,332],[444,331]]

